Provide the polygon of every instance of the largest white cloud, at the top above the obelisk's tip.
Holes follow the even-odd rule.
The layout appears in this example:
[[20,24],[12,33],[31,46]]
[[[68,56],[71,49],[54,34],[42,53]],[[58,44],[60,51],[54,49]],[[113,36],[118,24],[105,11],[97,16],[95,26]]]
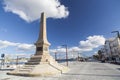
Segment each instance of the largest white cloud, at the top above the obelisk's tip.
[[67,7],[59,0],[3,0],[4,10],[19,15],[27,22],[40,18],[45,12],[47,18],[65,18],[69,15]]

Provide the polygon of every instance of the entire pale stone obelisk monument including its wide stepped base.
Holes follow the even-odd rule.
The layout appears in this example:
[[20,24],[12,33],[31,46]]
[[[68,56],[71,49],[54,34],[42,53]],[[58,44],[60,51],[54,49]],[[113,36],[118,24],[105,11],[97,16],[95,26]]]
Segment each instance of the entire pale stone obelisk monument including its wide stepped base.
[[50,43],[47,40],[46,16],[41,14],[40,32],[35,43],[36,53],[23,67],[8,72],[9,75],[19,76],[49,76],[67,72],[68,67],[58,64],[49,54]]

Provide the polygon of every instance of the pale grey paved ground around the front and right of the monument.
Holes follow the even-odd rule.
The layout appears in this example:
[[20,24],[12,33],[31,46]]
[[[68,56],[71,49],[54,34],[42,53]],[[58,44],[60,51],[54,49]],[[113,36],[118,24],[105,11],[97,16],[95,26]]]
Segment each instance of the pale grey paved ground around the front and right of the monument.
[[[63,64],[64,65],[64,64]],[[21,77],[0,71],[0,80],[120,80],[120,65],[99,62],[70,62],[70,71],[52,77]]]

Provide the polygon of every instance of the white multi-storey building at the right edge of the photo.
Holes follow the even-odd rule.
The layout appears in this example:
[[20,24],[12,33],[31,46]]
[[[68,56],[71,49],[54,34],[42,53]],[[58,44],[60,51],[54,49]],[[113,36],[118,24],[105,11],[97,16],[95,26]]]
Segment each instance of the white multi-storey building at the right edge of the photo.
[[105,41],[104,45],[105,57],[112,60],[120,61],[120,39],[118,37],[111,38]]

